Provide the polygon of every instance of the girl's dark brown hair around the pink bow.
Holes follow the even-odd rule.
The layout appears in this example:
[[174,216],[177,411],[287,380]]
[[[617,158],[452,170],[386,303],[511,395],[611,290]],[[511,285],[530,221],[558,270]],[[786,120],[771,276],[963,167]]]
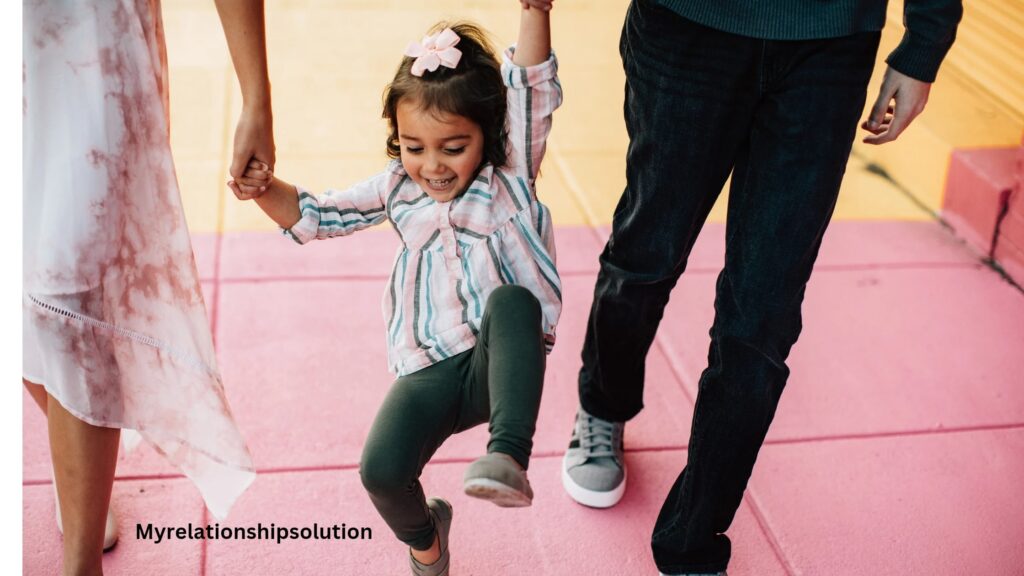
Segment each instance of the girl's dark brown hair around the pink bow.
[[398,102],[416,101],[421,110],[464,116],[480,126],[483,132],[483,161],[496,168],[505,165],[508,157],[506,118],[508,104],[501,64],[487,40],[486,33],[469,23],[439,23],[430,29],[435,34],[451,28],[459,35],[457,48],[462,58],[454,69],[438,67],[413,76],[415,58],[406,56],[394,79],[384,89],[384,114],[387,119],[387,155],[400,158],[398,145]]

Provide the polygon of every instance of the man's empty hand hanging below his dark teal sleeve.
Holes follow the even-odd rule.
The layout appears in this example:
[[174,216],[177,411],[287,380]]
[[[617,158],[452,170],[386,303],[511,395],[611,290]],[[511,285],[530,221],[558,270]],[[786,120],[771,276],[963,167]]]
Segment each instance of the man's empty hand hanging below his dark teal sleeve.
[[[871,113],[860,127],[873,135],[866,136],[862,141],[869,145],[891,142],[913,122],[928,102],[928,92],[932,85],[915,80],[899,73],[892,68],[886,69],[882,79],[882,89],[879,98],[871,107]],[[895,101],[895,106],[892,104]]]

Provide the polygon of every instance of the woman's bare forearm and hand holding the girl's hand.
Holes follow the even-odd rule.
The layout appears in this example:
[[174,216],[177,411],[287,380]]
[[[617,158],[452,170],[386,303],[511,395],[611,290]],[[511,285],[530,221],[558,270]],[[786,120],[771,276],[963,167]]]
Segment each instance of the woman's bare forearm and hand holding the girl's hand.
[[[216,0],[216,4],[242,87],[242,116],[234,129],[234,152],[229,169],[232,177],[240,178],[252,159],[265,163],[271,170],[276,161],[263,0]],[[260,194],[259,188],[245,184],[232,190],[243,200]]]

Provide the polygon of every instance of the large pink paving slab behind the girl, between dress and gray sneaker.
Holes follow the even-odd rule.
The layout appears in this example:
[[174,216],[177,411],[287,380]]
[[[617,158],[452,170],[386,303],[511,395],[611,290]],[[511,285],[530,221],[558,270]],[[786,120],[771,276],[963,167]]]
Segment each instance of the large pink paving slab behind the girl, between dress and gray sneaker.
[[[560,454],[568,442],[593,286],[590,276],[563,278],[565,304],[558,342],[549,358],[538,454]],[[258,468],[358,462],[392,381],[379,307],[383,289],[383,279],[221,287],[221,369]],[[631,426],[628,446],[683,446],[691,404],[663,356],[651,356],[648,373],[658,385],[648,396],[643,418]],[[453,439],[438,457],[476,457],[485,445],[481,426]]]

